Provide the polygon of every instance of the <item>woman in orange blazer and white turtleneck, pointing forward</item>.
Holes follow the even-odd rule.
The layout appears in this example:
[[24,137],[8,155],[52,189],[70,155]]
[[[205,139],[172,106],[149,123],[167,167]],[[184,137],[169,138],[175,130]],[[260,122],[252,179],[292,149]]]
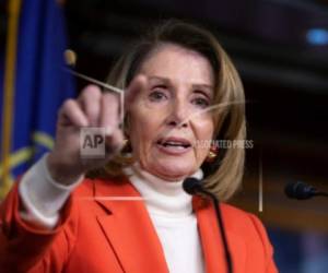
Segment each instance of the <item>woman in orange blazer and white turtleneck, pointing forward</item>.
[[[1,207],[1,269],[226,272],[213,206],[181,183],[203,178],[221,200],[239,186],[244,150],[211,141],[245,139],[244,92],[229,57],[207,31],[169,21],[117,62],[108,83],[128,86],[124,130],[112,93],[89,86],[63,104],[54,151]],[[80,156],[84,127],[106,129],[105,158]],[[234,272],[277,272],[260,222],[221,210]]]

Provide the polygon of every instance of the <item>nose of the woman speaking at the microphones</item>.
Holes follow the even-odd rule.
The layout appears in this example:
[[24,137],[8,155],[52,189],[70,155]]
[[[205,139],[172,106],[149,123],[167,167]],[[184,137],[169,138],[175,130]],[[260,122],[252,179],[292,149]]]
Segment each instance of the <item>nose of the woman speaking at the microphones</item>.
[[167,118],[167,124],[171,127],[188,127],[188,102],[185,98],[175,98],[172,107],[171,112]]

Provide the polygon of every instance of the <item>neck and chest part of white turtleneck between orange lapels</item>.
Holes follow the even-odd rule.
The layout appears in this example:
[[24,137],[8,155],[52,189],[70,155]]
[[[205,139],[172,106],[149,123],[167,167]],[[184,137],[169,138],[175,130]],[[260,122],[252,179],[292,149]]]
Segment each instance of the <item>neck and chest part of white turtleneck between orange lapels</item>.
[[[127,169],[130,181],[142,197],[161,240],[169,272],[203,272],[201,244],[191,195],[183,181],[165,181],[142,170],[139,165]],[[201,179],[199,169],[194,177]]]

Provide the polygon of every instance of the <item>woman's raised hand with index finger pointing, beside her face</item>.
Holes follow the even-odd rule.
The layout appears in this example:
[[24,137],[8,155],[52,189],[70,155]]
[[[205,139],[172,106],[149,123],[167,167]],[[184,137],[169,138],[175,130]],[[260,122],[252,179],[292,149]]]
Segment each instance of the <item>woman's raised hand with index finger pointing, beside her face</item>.
[[[102,92],[96,85],[86,86],[77,99],[63,103],[57,119],[55,147],[47,157],[48,169],[56,181],[70,185],[85,171],[105,165],[120,151],[124,143],[121,111],[128,111],[136,95],[145,86],[145,81],[143,75],[133,79],[125,92],[125,109],[120,106],[120,94]],[[86,127],[105,130],[103,158],[86,159],[81,156],[80,131]]]

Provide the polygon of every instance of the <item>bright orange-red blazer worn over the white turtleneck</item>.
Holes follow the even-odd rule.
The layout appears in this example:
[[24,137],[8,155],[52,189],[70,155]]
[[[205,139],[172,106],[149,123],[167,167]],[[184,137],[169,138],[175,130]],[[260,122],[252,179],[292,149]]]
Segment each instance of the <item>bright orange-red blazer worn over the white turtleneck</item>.
[[[0,272],[167,273],[164,252],[144,203],[129,181],[85,179],[61,211],[56,229],[32,226],[19,214],[17,186],[1,204]],[[225,273],[215,213],[194,198],[206,272]],[[260,221],[222,204],[234,273],[278,272]],[[187,272],[181,272],[187,273]]]

